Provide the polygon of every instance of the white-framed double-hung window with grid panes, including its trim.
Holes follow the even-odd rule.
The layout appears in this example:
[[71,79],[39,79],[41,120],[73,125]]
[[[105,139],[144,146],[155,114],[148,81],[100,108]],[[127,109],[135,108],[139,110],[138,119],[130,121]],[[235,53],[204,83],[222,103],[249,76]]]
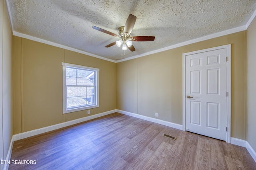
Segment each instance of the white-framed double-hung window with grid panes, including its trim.
[[99,107],[98,68],[62,63],[62,113]]

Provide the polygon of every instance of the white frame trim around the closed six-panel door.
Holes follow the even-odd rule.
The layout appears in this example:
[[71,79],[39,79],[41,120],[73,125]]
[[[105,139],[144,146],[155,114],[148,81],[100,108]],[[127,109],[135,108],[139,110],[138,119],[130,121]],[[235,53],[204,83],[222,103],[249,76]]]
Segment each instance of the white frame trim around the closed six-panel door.
[[230,131],[231,131],[231,44],[222,45],[218,47],[212,47],[208,49],[202,49],[198,51],[192,51],[182,54],[182,115],[183,115],[183,125],[182,130],[186,131],[186,56],[196,53],[203,53],[207,51],[226,49],[226,92],[228,93],[226,100],[226,142],[230,143]]

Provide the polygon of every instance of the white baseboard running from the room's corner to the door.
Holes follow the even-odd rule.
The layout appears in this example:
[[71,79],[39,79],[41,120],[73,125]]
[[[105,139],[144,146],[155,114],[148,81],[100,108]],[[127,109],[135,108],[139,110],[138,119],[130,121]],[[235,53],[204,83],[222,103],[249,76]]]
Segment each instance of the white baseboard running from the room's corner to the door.
[[129,115],[129,116],[132,116],[132,117],[137,117],[139,119],[143,119],[143,120],[146,120],[146,121],[151,121],[151,122],[154,122],[154,123],[158,123],[160,125],[165,125],[165,126],[168,126],[168,127],[172,127],[172,128],[175,128],[175,129],[179,129],[179,130],[182,130],[182,125],[179,125],[179,124],[176,124],[176,123],[171,123],[171,122],[168,122],[168,121],[164,121],[164,120],[160,120],[160,119],[155,119],[155,118],[152,118],[152,117],[147,117],[147,116],[144,116],[144,115],[139,115],[139,114],[136,114],[136,113],[131,113],[131,112],[128,112],[128,111],[123,111],[123,110],[116,110],[118,113],[122,113],[124,115]]

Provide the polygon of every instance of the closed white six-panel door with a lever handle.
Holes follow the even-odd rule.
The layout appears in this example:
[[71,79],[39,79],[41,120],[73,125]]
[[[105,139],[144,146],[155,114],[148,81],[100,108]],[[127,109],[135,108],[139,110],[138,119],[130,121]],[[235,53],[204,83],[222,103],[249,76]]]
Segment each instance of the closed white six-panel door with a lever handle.
[[185,56],[186,131],[226,141],[226,48]]

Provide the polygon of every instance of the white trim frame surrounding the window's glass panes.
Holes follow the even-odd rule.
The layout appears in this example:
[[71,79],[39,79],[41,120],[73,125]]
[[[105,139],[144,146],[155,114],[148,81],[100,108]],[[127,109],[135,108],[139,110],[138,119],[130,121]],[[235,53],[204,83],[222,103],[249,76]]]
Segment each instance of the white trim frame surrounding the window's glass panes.
[[[93,68],[88,66],[82,66],[82,65],[76,65],[76,64],[70,64],[70,63],[61,63],[62,65],[62,114],[71,113],[75,111],[81,111],[81,110],[87,110],[99,107],[99,68]],[[82,69],[88,69],[88,70],[94,70],[96,71],[96,104],[91,106],[84,106],[84,107],[76,107],[72,109],[67,109],[67,86],[66,86],[66,66],[74,67],[74,68],[82,68]]]

